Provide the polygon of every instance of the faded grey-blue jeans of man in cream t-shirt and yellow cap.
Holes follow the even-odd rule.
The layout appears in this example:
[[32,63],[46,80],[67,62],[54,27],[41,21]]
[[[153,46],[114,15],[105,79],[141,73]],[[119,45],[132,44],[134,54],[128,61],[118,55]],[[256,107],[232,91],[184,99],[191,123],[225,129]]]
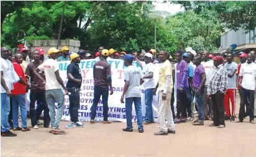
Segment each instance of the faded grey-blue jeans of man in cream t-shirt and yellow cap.
[[[51,89],[45,91],[45,97],[50,109],[50,119],[52,128],[56,129],[60,125],[64,111],[64,94],[62,89]],[[55,119],[55,102],[57,102],[57,114]]]

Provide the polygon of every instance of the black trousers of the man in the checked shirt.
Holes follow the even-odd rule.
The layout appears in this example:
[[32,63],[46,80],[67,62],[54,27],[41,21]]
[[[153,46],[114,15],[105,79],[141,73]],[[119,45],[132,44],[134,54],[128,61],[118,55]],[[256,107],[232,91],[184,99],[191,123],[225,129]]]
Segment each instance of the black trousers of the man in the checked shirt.
[[211,95],[213,102],[213,122],[214,125],[225,125],[225,108],[224,108],[224,93],[217,92]]

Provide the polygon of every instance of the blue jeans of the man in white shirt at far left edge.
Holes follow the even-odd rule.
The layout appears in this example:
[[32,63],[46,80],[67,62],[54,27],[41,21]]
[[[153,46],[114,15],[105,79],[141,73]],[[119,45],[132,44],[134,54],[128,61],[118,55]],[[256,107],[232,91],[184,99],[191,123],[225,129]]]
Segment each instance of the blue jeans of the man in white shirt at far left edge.
[[8,115],[10,113],[10,97],[6,93],[1,93],[1,132],[10,130]]

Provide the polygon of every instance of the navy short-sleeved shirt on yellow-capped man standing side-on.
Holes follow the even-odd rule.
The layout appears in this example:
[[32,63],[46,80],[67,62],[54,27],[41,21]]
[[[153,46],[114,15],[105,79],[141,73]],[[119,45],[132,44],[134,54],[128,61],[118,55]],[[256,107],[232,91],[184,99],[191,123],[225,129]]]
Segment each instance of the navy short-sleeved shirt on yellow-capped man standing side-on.
[[[82,80],[82,75],[81,75],[81,70],[79,68],[79,65],[76,63],[70,63],[70,65],[68,65],[68,68],[66,69],[66,74],[72,74],[72,76],[75,79],[81,79]],[[66,83],[66,87],[71,88],[71,87],[77,87],[80,88],[81,84],[77,84],[74,81],[68,79],[68,83]]]

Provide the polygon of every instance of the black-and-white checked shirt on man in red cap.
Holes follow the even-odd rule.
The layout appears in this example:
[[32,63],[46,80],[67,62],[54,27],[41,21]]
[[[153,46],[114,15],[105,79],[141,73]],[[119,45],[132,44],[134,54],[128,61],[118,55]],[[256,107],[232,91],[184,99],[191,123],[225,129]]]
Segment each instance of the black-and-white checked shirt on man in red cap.
[[217,91],[222,93],[227,90],[227,70],[223,65],[217,67],[214,66],[213,74],[211,79],[209,79],[207,94],[216,94]]

